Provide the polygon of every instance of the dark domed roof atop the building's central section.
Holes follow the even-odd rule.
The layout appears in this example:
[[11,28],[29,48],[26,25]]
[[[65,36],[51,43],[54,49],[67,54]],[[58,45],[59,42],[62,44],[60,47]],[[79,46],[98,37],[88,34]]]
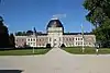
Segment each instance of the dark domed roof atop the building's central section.
[[58,19],[53,19],[48,22],[47,28],[48,27],[63,27],[63,24],[61,23]]

